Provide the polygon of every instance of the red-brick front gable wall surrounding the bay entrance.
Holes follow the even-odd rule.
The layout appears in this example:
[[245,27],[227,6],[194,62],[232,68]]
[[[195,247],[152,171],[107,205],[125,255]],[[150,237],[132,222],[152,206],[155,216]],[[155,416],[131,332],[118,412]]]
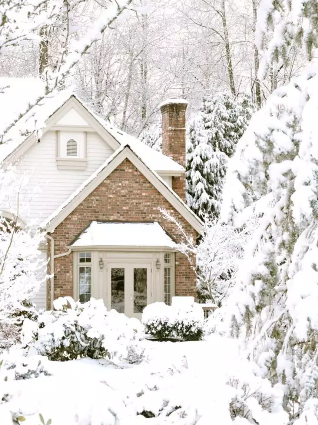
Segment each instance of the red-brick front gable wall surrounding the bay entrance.
[[[52,233],[54,254],[67,251],[69,245],[92,220],[158,221],[177,242],[181,235],[173,223],[166,221],[158,206],[173,214],[188,234],[195,230],[155,189],[152,184],[125,159]],[[48,250],[50,253],[50,247]],[[73,256],[55,259],[54,298],[73,295]],[[48,289],[49,293],[49,289]],[[196,276],[188,260],[176,253],[176,295],[196,295]]]

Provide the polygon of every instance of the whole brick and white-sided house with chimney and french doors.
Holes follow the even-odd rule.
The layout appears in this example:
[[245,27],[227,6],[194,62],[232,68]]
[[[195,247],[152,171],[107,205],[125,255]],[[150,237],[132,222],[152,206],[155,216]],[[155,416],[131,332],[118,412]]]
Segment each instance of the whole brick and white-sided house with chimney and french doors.
[[148,303],[196,294],[195,273],[176,249],[182,235],[160,211],[194,239],[202,232],[185,203],[186,108],[183,100],[162,104],[160,153],[64,94],[45,105],[41,138],[30,135],[6,155],[29,178],[21,223],[36,217],[46,232],[50,278],[38,307],[52,308],[59,296],[93,296],[140,317]]

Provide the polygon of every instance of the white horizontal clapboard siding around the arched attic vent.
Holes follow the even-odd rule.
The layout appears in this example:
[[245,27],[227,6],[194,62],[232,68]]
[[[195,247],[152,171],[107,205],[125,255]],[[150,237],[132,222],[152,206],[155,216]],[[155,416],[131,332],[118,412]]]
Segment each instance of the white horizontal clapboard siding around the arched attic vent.
[[[26,189],[19,193],[19,216],[35,222],[34,228],[53,213],[104,161],[113,149],[97,133],[87,133],[87,167],[81,170],[61,170],[56,163],[56,132],[47,132],[19,160],[17,170],[29,177]],[[0,209],[16,212],[17,196],[10,195]],[[46,285],[33,299],[38,308],[46,306]]]

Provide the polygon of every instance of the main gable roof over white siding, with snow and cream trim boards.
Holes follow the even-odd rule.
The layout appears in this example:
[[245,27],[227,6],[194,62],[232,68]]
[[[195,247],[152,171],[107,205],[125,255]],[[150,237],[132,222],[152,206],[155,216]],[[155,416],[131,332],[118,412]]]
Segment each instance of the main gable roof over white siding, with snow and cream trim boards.
[[[5,143],[0,145],[0,160],[18,159],[50,128],[54,129],[54,124],[63,115],[74,108],[114,150],[129,144],[151,169],[159,173],[182,175],[185,171],[184,167],[172,158],[108,124],[69,90],[45,97],[38,105],[18,119],[21,114],[25,113],[30,103],[45,96],[44,83],[35,78],[0,78],[0,87],[5,87],[3,93],[0,92],[0,105],[5,105],[4,108],[1,108],[0,135],[1,130],[3,132],[10,123],[16,121],[15,125],[6,133]],[[5,111],[3,120],[2,110]],[[34,132],[26,134],[26,129],[30,128],[34,129]]]

